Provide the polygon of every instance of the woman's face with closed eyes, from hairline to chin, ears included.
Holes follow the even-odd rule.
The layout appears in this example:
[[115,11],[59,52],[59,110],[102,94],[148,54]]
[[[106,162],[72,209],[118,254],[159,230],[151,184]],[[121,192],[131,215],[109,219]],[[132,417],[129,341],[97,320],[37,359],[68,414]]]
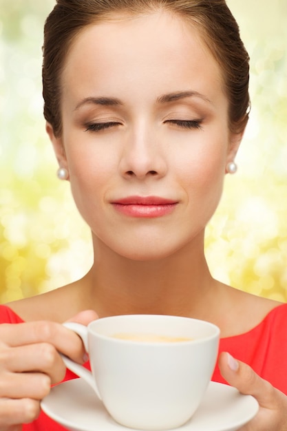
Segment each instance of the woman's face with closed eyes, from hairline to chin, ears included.
[[47,129],[95,242],[153,260],[202,239],[238,138],[198,30],[164,12],[89,26],[62,82],[63,134]]

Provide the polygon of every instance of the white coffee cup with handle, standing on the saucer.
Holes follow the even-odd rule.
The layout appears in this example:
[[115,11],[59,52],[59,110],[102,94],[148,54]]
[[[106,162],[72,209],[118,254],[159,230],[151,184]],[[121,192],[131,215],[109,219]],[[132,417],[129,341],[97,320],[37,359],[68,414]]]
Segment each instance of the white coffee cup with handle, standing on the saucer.
[[67,368],[94,388],[121,425],[178,428],[200,405],[217,359],[217,326],[167,315],[120,315],[88,326],[64,325],[83,339],[92,373],[63,357]]

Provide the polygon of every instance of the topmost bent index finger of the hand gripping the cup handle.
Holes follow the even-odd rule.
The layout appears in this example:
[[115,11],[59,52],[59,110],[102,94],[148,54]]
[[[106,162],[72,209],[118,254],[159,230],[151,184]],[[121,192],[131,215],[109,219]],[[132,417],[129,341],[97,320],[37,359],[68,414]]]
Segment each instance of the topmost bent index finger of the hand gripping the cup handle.
[[20,324],[2,324],[0,339],[10,347],[28,344],[52,344],[64,355],[79,364],[83,363],[85,349],[81,339],[72,330],[56,322],[28,322]]

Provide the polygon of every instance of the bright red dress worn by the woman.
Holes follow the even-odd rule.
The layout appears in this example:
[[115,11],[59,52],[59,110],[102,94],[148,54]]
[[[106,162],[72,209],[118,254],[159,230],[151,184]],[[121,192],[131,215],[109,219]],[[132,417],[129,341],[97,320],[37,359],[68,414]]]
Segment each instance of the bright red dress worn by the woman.
[[[0,323],[21,323],[23,320],[7,306],[0,306]],[[227,351],[249,364],[257,374],[270,381],[287,395],[287,304],[274,308],[262,322],[247,333],[220,340],[220,352]],[[67,371],[65,380],[75,375]],[[216,366],[213,381],[226,383]],[[43,412],[23,431],[63,431],[58,423]]]

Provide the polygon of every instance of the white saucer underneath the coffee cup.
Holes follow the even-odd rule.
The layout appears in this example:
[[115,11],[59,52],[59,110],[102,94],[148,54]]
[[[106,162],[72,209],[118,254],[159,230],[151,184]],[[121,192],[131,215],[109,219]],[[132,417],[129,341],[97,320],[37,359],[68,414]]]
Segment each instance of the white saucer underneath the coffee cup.
[[[109,416],[83,379],[54,386],[41,407],[54,421],[71,431],[131,431]],[[176,430],[235,431],[250,421],[257,410],[258,403],[250,395],[241,395],[231,386],[211,381],[191,420]]]

